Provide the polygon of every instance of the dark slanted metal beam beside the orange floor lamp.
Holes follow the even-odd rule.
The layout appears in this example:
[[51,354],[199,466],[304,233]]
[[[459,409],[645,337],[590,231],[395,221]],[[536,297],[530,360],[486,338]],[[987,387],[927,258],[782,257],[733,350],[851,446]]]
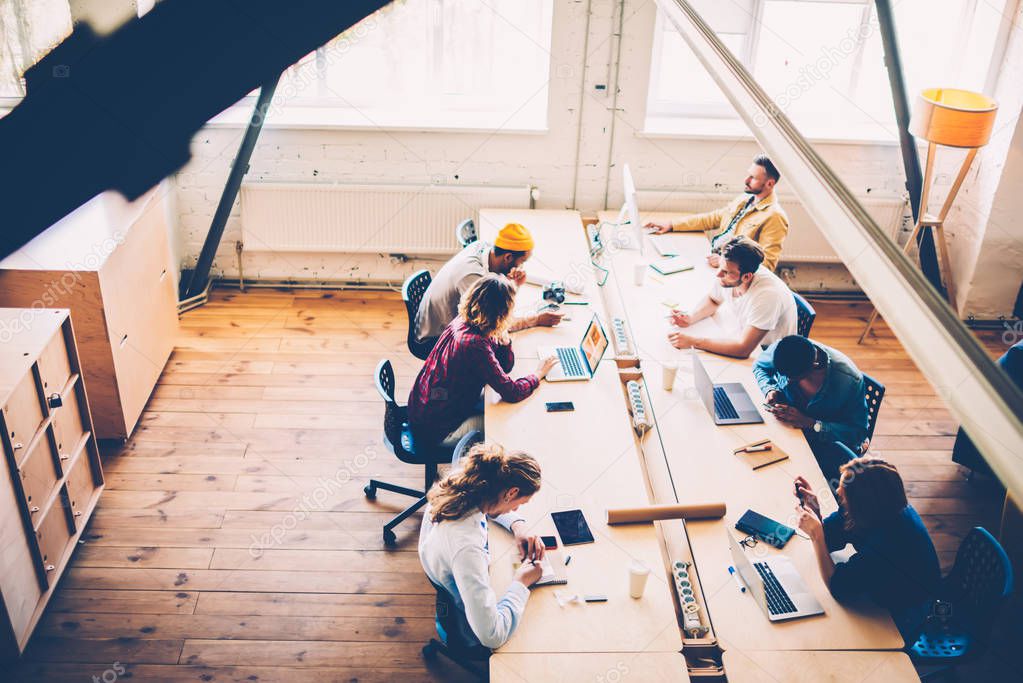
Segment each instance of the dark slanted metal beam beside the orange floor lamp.
[[[881,44],[885,50],[885,67],[888,71],[888,85],[892,91],[892,103],[895,105],[895,122],[898,125],[898,141],[902,148],[902,167],[905,169],[905,188],[909,192],[909,207],[913,209],[913,220],[920,219],[920,195],[924,186],[924,175],[920,170],[920,155],[917,153],[917,139],[909,134],[909,99],[905,93],[905,79],[902,76],[902,58],[898,50],[898,36],[895,33],[895,16],[889,0],[875,0],[878,10],[878,24],[881,25]],[[924,207],[926,210],[927,208]],[[931,230],[921,230],[917,236],[917,246],[920,249],[920,268],[935,289],[942,294],[941,271],[938,268],[938,256],[934,248],[934,236]]]

